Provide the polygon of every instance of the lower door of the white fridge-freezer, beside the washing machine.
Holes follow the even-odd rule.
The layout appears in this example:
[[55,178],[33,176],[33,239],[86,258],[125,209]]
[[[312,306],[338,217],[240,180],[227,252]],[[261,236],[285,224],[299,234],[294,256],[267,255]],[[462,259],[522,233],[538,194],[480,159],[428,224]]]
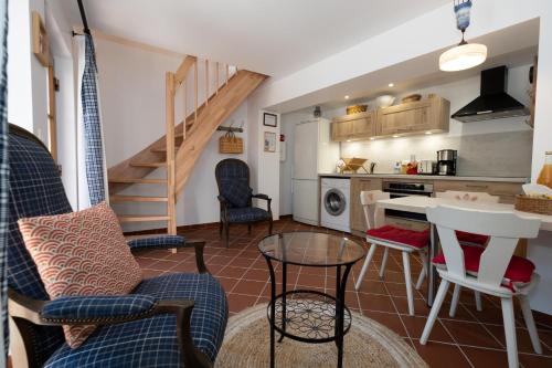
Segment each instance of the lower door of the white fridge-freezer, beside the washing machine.
[[318,180],[294,180],[294,220],[318,224]]

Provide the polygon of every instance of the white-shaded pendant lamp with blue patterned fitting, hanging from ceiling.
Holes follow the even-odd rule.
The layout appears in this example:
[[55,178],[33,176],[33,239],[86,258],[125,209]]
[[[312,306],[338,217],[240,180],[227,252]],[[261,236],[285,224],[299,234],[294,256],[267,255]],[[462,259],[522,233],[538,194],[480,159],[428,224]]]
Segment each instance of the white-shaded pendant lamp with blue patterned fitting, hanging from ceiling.
[[480,43],[467,43],[464,33],[469,27],[469,12],[471,0],[459,0],[454,2],[456,13],[456,27],[461,31],[460,43],[445,51],[439,57],[439,69],[444,72],[464,71],[477,66],[487,59],[487,46]]

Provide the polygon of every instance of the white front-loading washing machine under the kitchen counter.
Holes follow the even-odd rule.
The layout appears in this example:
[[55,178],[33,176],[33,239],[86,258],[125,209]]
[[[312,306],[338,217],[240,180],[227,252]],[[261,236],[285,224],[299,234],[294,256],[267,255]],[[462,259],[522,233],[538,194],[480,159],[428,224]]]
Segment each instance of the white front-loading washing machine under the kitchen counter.
[[320,224],[328,229],[351,232],[350,198],[349,178],[322,178]]

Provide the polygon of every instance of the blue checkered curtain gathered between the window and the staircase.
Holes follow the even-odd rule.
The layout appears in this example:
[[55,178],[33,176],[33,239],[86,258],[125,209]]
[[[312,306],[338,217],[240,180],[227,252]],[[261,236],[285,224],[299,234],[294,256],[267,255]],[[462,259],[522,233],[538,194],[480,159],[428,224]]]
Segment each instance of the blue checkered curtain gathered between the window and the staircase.
[[106,199],[106,182],[96,55],[92,36],[86,34],[85,38],[85,65],[81,85],[81,103],[83,105],[86,180],[88,182],[91,204],[94,206]]

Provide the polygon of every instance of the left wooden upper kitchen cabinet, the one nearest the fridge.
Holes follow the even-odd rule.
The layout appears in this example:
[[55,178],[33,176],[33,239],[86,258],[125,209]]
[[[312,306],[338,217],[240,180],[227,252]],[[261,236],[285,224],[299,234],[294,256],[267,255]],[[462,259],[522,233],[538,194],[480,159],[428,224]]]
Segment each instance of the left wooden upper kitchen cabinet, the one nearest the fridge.
[[375,135],[375,113],[367,112],[337,117],[331,123],[331,140],[363,140]]

